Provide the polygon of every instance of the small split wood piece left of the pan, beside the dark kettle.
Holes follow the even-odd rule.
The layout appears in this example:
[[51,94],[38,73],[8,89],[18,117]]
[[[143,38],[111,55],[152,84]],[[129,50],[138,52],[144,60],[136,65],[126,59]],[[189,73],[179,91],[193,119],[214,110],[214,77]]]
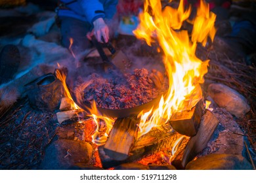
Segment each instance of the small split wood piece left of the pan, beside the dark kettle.
[[66,121],[66,120],[81,120],[84,119],[86,114],[84,111],[81,111],[79,109],[75,109],[75,110],[67,110],[67,111],[63,111],[63,112],[57,112],[56,113],[57,116],[57,120],[60,124],[62,124],[62,122]]

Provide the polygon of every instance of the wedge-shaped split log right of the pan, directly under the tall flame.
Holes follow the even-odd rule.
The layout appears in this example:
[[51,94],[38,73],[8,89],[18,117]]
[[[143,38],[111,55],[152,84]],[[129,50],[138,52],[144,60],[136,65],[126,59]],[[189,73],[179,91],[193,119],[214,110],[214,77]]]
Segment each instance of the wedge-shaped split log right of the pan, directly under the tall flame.
[[169,122],[178,133],[193,137],[198,132],[203,108],[203,101],[201,100],[191,110],[184,110],[173,114]]

